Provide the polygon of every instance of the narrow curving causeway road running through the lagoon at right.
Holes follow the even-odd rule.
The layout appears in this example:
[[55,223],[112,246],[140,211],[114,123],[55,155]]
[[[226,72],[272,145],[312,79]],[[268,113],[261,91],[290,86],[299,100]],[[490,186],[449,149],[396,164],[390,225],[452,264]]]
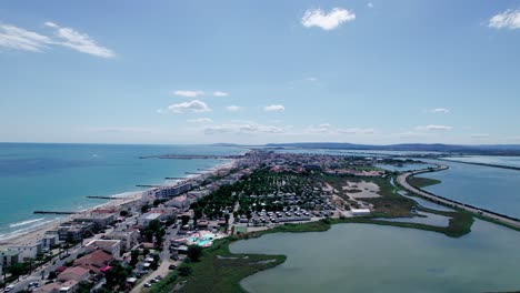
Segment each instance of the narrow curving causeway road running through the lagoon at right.
[[464,210],[464,211],[473,213],[473,214],[479,214],[479,215],[496,220],[498,222],[501,222],[501,223],[504,223],[504,224],[508,224],[508,225],[511,225],[511,226],[514,226],[514,228],[520,228],[520,222],[514,220],[514,219],[510,219],[510,218],[502,216],[502,215],[499,215],[499,214],[496,214],[496,213],[491,213],[491,212],[488,212],[488,211],[480,210],[480,209],[474,208],[474,206],[469,206],[469,205],[466,205],[463,203],[459,203],[459,202],[454,202],[454,201],[451,201],[451,200],[448,200],[448,199],[444,199],[444,198],[440,198],[438,195],[426,192],[426,191],[423,191],[421,189],[417,189],[417,188],[414,188],[414,186],[412,186],[412,185],[410,185],[408,183],[408,178],[409,176],[420,174],[420,173],[431,172],[431,171],[441,171],[441,170],[446,170],[446,169],[448,169],[448,166],[441,165],[441,166],[437,168],[436,170],[428,170],[428,171],[419,170],[419,171],[402,173],[402,174],[400,174],[398,176],[398,182],[403,189],[406,189],[406,190],[408,190],[408,191],[410,191],[412,193],[416,193],[417,195],[420,195],[420,196],[422,196],[424,199],[428,199],[428,200],[431,200],[431,201],[434,201],[434,202],[439,202],[439,203],[448,205],[448,206],[453,206],[453,208],[457,208],[457,209],[461,209],[461,210]]

